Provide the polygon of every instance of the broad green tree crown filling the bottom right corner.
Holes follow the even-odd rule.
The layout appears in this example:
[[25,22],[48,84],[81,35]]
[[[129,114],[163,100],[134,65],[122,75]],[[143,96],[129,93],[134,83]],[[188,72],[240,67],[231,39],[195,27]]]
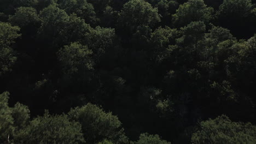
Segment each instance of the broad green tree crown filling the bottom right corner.
[[251,123],[232,122],[222,115],[200,123],[192,143],[255,143],[256,127]]

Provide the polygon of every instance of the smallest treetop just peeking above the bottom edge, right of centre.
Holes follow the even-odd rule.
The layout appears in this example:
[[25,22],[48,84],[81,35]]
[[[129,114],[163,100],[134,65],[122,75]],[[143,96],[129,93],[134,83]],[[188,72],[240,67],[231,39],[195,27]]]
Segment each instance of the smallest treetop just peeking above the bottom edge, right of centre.
[[171,144],[165,140],[161,140],[159,135],[149,135],[147,133],[141,134],[139,140],[135,144]]

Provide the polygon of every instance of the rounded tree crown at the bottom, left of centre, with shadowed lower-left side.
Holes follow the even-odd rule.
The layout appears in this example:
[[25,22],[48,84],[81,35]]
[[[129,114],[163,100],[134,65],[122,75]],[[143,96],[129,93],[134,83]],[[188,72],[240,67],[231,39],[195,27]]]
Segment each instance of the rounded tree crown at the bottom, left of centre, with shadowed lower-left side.
[[87,143],[97,143],[108,139],[114,143],[127,143],[124,129],[117,116],[104,112],[100,107],[87,104],[72,109],[68,116],[82,125],[82,131]]

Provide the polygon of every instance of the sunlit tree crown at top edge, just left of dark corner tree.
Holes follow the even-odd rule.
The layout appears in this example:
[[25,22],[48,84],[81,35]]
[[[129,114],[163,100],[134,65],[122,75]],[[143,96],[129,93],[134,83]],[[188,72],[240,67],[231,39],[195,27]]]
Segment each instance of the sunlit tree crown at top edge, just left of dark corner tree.
[[183,27],[193,21],[209,22],[212,18],[212,8],[207,8],[203,0],[189,0],[179,5],[176,14],[172,15],[172,22],[175,26]]

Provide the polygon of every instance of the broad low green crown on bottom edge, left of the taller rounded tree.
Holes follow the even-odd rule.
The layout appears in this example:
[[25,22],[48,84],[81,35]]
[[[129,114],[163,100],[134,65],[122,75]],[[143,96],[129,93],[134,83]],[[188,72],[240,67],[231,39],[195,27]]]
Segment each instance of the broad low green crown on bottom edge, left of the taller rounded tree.
[[24,135],[19,135],[21,143],[84,143],[81,125],[69,121],[66,115],[34,118],[26,128]]

